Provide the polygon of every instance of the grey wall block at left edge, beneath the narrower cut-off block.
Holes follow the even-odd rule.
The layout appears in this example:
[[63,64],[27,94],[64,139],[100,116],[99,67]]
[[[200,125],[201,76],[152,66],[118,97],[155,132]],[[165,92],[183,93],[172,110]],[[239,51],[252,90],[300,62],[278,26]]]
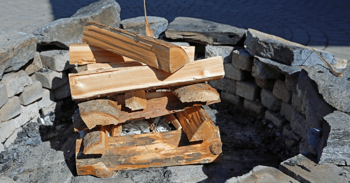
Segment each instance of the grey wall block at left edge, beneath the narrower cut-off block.
[[7,103],[0,108],[1,121],[8,121],[21,113],[21,103],[17,96],[8,99]]

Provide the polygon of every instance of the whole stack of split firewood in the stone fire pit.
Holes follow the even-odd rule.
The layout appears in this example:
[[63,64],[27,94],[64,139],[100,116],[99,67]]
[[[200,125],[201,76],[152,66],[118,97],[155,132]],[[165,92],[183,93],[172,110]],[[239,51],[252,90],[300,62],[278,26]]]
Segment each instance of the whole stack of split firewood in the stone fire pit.
[[[79,111],[74,130],[78,175],[221,160],[219,129],[202,105],[220,101],[206,81],[224,77],[221,56],[194,61],[194,47],[87,23],[71,44],[69,74]],[[86,44],[87,43],[87,44]],[[156,132],[163,117],[176,130]],[[153,133],[121,136],[123,123],[145,119]]]

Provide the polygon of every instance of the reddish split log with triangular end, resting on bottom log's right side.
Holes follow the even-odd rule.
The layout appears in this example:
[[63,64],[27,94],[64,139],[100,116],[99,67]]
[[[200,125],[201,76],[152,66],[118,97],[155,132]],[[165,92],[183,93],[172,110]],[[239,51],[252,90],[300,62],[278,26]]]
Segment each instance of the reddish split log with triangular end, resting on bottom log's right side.
[[214,124],[202,107],[175,113],[190,142],[215,138]]

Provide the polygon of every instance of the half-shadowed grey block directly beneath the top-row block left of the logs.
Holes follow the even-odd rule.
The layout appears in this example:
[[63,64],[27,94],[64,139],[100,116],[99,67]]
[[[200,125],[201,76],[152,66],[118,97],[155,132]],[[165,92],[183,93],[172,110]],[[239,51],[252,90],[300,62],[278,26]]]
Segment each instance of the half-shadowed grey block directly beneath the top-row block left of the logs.
[[42,69],[34,73],[36,80],[47,89],[55,89],[68,82],[65,72],[56,72],[50,69]]

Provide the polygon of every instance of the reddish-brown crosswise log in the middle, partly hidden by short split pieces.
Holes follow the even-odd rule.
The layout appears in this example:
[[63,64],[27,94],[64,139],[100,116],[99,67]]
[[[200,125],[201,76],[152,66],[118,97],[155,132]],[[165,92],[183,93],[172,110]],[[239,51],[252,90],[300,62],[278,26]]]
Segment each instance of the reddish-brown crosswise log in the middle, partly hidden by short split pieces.
[[[154,92],[154,93],[161,93],[161,92]],[[219,102],[218,100],[218,101],[208,101],[208,102],[196,101],[196,102],[182,103],[172,92],[168,92],[168,93],[171,93],[171,95],[165,96],[165,97],[148,99],[147,108],[145,108],[144,110],[132,111],[130,108],[125,107],[125,104],[118,105],[119,123],[125,122],[127,120],[155,118],[155,117],[171,114],[178,111],[183,111],[188,107],[209,105],[209,104],[214,104]],[[162,96],[162,94],[160,94],[159,96]],[[100,124],[99,124],[99,120],[94,121],[94,125],[109,125],[109,124],[110,123],[104,124],[104,121],[102,121]],[[75,119],[73,125],[74,125],[75,132],[89,129],[86,126],[85,122],[83,120],[80,120],[78,116],[77,116],[77,119]]]

